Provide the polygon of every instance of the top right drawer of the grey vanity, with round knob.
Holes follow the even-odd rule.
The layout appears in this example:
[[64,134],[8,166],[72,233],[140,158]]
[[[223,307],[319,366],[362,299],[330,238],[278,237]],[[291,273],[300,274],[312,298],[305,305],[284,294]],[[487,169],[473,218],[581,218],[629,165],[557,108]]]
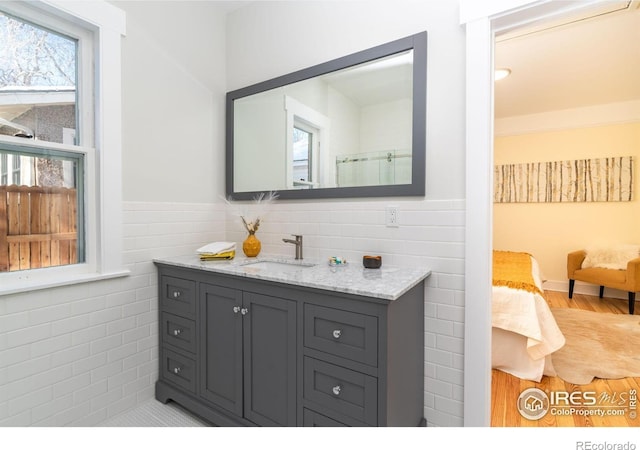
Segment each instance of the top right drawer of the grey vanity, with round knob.
[[378,318],[307,303],[304,345],[376,367]]

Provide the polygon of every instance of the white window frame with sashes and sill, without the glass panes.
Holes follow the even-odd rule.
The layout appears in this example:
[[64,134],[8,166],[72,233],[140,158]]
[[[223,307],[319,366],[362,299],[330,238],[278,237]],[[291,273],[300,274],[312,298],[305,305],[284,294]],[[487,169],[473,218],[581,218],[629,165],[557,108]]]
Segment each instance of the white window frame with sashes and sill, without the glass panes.
[[[0,273],[0,296],[126,276],[122,261],[121,48],[125,14],[105,1],[3,3],[2,10],[78,39],[80,145],[0,136],[9,146],[81,153],[84,158],[84,262]],[[84,63],[83,63],[84,61]]]

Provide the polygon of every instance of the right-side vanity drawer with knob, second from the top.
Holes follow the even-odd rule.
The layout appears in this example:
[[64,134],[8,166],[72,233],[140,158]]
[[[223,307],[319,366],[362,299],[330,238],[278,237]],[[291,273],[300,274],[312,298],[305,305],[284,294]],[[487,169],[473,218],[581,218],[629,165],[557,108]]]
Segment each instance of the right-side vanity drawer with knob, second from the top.
[[304,399],[352,417],[378,424],[378,380],[314,358],[304,358]]

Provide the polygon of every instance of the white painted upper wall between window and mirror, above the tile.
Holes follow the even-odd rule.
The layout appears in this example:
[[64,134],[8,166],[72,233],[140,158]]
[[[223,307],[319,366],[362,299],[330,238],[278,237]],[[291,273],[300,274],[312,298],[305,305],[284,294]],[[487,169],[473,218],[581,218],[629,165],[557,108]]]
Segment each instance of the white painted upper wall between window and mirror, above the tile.
[[112,3],[127,14],[124,199],[218,201],[224,191],[224,13],[217,2]]

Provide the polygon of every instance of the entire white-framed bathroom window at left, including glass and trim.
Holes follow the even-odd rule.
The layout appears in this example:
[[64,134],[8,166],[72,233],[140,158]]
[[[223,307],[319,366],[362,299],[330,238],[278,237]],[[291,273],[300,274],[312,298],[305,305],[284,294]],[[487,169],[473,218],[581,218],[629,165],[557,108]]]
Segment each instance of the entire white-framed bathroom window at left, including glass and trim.
[[126,274],[124,13],[58,4],[0,2],[0,295]]

